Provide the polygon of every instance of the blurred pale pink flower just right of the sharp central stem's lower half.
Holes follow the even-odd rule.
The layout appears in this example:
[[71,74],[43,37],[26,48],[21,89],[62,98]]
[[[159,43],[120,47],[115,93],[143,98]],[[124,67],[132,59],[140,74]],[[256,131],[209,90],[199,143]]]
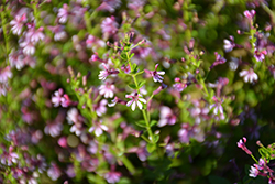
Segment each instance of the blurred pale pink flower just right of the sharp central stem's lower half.
[[162,106],[160,108],[160,121],[158,121],[158,127],[164,127],[166,125],[173,126],[176,123],[177,117],[173,113],[169,107],[167,106]]

